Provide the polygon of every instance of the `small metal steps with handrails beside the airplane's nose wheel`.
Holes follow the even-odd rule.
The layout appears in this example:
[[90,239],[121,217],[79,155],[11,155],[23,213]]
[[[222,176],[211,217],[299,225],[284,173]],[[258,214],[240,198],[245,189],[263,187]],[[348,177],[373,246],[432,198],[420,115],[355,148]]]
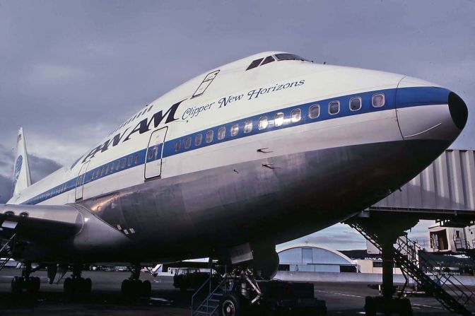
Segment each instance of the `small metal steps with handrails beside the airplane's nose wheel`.
[[226,277],[216,281],[210,274],[207,279],[192,296],[192,316],[218,315],[221,298],[233,289],[234,282]]

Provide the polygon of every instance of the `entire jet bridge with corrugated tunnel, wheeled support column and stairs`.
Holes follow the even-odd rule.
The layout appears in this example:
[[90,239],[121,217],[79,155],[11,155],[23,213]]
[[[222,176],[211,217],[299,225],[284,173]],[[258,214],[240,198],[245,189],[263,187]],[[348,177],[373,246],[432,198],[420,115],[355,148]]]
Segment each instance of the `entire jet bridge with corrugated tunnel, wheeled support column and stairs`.
[[[475,223],[475,151],[447,150],[399,190],[362,211],[346,223],[358,230],[382,253],[382,296],[367,298],[367,315],[399,311],[410,315],[410,303],[394,297],[392,267],[396,263],[404,276],[414,279],[426,293],[433,295],[447,310],[469,315],[467,305],[475,302],[475,294],[455,276],[447,276],[424,261],[423,248],[416,242],[401,238],[404,230],[421,219],[435,220],[441,226],[466,227]],[[385,224],[386,223],[386,224]],[[467,241],[454,240],[458,250],[474,258]],[[465,251],[466,250],[466,251]],[[428,268],[429,267],[429,268]]]

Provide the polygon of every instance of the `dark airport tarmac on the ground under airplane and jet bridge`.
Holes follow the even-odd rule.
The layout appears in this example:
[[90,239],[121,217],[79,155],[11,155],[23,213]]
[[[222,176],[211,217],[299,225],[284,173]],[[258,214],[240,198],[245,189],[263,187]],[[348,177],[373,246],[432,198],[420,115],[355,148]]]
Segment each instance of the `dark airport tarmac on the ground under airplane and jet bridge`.
[[[92,293],[87,298],[71,299],[63,295],[62,284],[47,284],[46,272],[38,271],[35,275],[40,276],[42,283],[37,298],[13,298],[10,282],[19,274],[19,269],[0,271],[0,315],[190,315],[193,292],[181,293],[173,288],[169,276],[153,278],[142,273],[141,279],[152,282],[151,298],[127,300],[120,293],[120,284],[129,277],[128,272],[85,271],[83,276],[93,280]],[[363,283],[315,283],[315,295],[327,301],[327,315],[364,315],[365,296],[377,294],[377,290]],[[414,315],[452,315],[434,298],[414,297],[411,303]]]

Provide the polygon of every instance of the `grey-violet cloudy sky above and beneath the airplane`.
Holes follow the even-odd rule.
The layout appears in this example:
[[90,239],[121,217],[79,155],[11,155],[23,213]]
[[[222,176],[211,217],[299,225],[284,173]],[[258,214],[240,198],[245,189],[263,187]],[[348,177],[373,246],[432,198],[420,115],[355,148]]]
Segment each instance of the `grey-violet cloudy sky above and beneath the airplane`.
[[[11,194],[18,127],[39,180],[171,88],[266,50],[423,78],[471,111],[474,16],[470,0],[0,0],[0,202]],[[454,148],[475,147],[474,112]],[[365,245],[342,225],[305,240]]]

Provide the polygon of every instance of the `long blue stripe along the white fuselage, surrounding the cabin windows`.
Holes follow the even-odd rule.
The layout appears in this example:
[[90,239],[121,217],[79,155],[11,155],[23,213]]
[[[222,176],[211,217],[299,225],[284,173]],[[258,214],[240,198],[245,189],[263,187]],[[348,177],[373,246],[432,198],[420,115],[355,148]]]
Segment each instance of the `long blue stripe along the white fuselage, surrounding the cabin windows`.
[[[371,99],[373,95],[377,93],[384,93],[385,95],[385,105],[382,107],[373,107],[371,104]],[[152,146],[149,149],[150,155],[148,155],[147,163],[158,160],[160,158],[167,158],[170,156],[175,156],[180,153],[186,153],[188,151],[193,151],[194,149],[204,148],[207,146],[212,146],[216,144],[221,144],[225,141],[233,141],[235,139],[241,139],[247,136],[253,136],[257,134],[267,133],[269,131],[276,131],[278,129],[286,129],[288,127],[295,127],[303,124],[310,124],[315,122],[326,121],[327,119],[336,119],[339,117],[348,117],[352,115],[361,115],[370,112],[379,112],[384,110],[391,110],[397,107],[411,107],[411,106],[421,106],[421,105],[438,105],[438,104],[447,104],[448,95],[450,90],[445,88],[435,88],[435,87],[415,87],[415,88],[399,88],[399,89],[385,89],[385,90],[374,90],[368,91],[365,93],[355,93],[351,95],[341,95],[336,98],[329,98],[325,100],[319,100],[311,103],[305,103],[301,105],[293,105],[291,107],[286,107],[280,110],[274,110],[271,112],[264,112],[259,115],[254,115],[252,117],[246,117],[244,119],[238,119],[233,122],[228,122],[226,124],[221,124],[216,127],[210,127],[209,129],[203,129],[192,134],[181,136],[177,139],[170,139],[165,141],[165,144],[160,144],[158,148]],[[351,98],[359,97],[362,100],[362,107],[360,110],[351,111],[349,107],[349,102]],[[328,112],[329,103],[332,101],[340,102],[340,111],[336,115],[330,115]],[[319,117],[311,119],[309,117],[310,107],[314,105],[320,106]],[[298,122],[291,121],[291,113],[295,109],[300,109],[301,119]],[[281,126],[274,126],[274,117],[277,113],[282,112],[284,115],[284,122]],[[266,129],[259,129],[259,119],[261,117],[267,117],[269,124]],[[252,130],[249,133],[244,133],[244,126],[246,122],[252,122]],[[238,125],[238,134],[231,136],[231,127]],[[225,127],[225,137],[223,139],[218,139],[218,130],[222,127]],[[209,143],[206,143],[206,133],[208,131],[213,131],[213,140]],[[201,134],[201,144],[195,145],[195,139],[198,134]],[[191,145],[189,148],[184,148],[187,139],[191,138]],[[177,141],[181,141],[180,151],[175,150]],[[163,156],[160,157],[160,152],[162,152],[163,147]],[[146,153],[147,148],[143,148],[134,153],[129,153],[127,156],[117,158],[100,165],[92,170],[88,170],[86,174],[81,175],[80,177],[74,177],[69,181],[62,183],[52,189],[49,189],[42,194],[28,199],[28,201],[23,202],[22,204],[38,204],[52,197],[56,197],[59,194],[68,192],[71,189],[76,188],[76,183],[80,184],[84,178],[84,184],[88,184],[95,180],[99,180],[102,177],[107,177],[108,175],[113,175],[117,172],[134,168],[138,165],[143,165],[146,162]]]

